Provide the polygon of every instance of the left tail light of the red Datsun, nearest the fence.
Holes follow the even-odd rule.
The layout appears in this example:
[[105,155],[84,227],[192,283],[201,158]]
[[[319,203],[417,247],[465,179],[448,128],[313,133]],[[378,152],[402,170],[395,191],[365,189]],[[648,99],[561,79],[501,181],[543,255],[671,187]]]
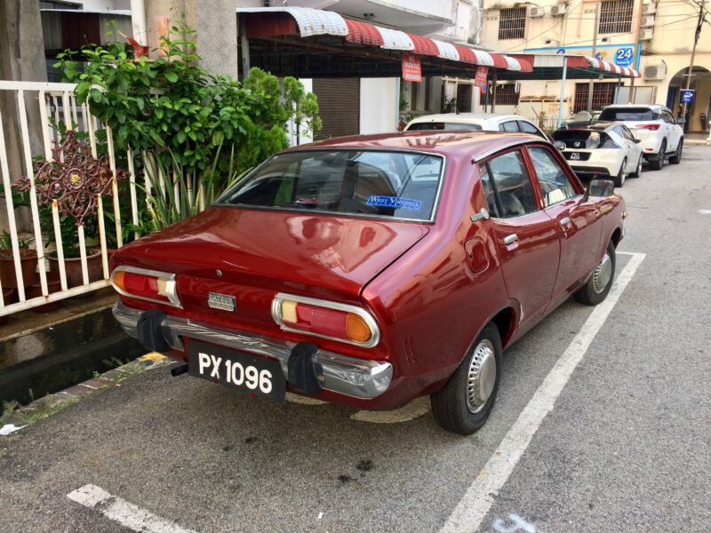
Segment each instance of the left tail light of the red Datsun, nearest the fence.
[[122,266],[111,273],[111,284],[119,294],[129,298],[180,307],[175,274]]

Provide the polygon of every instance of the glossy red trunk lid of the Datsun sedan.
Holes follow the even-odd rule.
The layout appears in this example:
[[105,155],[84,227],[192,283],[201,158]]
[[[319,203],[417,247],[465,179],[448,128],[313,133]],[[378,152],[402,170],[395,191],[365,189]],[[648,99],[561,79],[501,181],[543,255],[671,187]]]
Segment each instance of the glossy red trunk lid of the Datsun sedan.
[[[177,274],[191,316],[276,327],[277,291],[359,304],[363,287],[428,231],[411,222],[212,207],[124,246],[114,266]],[[209,306],[210,292],[234,297],[235,312]]]

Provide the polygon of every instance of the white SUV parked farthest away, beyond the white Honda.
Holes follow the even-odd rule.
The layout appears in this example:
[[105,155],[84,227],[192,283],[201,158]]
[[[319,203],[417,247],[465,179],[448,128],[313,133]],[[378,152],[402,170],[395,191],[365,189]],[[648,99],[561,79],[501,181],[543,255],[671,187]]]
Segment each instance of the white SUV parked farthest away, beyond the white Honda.
[[665,159],[669,163],[682,161],[683,120],[676,121],[667,107],[628,104],[608,106],[600,114],[601,121],[619,121],[640,140],[644,159],[652,171],[661,170]]

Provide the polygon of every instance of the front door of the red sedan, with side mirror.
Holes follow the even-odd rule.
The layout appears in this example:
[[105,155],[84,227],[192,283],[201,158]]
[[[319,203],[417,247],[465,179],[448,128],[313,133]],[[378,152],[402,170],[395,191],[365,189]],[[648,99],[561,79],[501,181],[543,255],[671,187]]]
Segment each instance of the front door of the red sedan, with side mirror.
[[600,243],[600,210],[583,199],[579,181],[569,175],[564,163],[549,147],[528,147],[543,211],[555,221],[560,238],[560,262],[552,299],[557,300],[593,267]]

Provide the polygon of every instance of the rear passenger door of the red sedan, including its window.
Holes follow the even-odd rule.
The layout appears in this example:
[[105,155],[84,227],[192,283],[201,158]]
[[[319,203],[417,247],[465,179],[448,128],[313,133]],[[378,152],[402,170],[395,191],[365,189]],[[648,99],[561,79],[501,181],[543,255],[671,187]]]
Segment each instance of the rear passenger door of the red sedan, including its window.
[[539,198],[521,149],[479,165],[508,298],[521,308],[520,322],[543,314],[555,285],[559,234]]

